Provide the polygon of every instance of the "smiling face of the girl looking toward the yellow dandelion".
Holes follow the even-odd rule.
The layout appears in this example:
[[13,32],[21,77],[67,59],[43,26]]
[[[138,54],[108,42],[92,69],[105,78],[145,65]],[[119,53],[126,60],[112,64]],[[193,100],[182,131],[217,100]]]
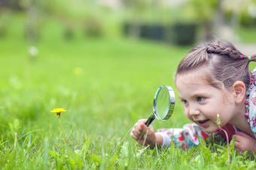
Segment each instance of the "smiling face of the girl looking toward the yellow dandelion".
[[212,133],[218,129],[217,114],[221,117],[221,127],[232,120],[235,103],[230,91],[209,85],[204,73],[198,69],[177,75],[175,84],[187,118]]

